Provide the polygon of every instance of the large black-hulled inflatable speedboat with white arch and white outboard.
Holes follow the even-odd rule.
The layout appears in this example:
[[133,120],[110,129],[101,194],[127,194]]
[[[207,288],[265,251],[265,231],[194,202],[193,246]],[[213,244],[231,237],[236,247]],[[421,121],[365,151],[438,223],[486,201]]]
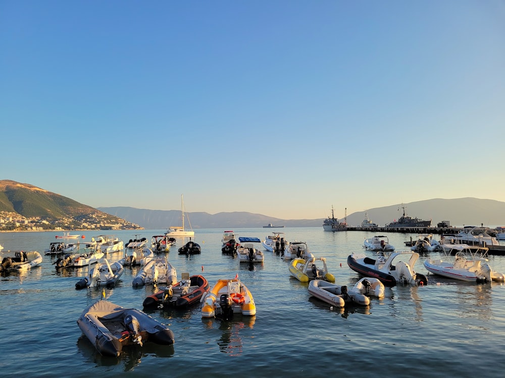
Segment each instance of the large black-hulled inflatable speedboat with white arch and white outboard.
[[395,286],[397,282],[426,285],[426,276],[414,271],[418,259],[419,254],[413,251],[389,255],[378,252],[375,260],[364,254],[352,253],[347,257],[347,265],[364,276],[378,278],[385,286]]

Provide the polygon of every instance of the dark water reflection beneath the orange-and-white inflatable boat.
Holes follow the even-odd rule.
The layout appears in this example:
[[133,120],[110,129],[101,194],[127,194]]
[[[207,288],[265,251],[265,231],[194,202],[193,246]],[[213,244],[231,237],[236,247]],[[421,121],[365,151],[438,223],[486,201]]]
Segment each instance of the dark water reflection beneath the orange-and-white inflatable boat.
[[238,317],[241,320],[223,321],[212,318],[202,318],[201,321],[206,329],[215,329],[216,327],[222,331],[221,336],[217,340],[219,351],[226,353],[229,356],[240,356],[242,354],[242,337],[241,333],[244,330],[252,329],[256,316],[253,317]]

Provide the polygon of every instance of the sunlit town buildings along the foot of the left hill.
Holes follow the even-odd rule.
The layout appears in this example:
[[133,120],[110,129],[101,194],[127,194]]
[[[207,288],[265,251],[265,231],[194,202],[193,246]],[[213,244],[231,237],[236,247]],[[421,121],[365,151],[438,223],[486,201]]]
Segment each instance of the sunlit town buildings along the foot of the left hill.
[[138,224],[107,213],[62,217],[24,217],[18,213],[0,211],[0,231],[48,231],[48,230],[137,230]]

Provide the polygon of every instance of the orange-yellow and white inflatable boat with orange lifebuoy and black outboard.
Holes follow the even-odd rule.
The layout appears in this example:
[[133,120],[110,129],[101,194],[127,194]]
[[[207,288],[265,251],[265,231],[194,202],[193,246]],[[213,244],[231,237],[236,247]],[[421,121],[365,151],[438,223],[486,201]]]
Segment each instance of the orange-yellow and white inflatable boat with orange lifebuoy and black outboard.
[[256,314],[256,304],[247,287],[235,277],[221,279],[203,298],[201,316],[203,318],[233,319],[235,313],[245,316]]

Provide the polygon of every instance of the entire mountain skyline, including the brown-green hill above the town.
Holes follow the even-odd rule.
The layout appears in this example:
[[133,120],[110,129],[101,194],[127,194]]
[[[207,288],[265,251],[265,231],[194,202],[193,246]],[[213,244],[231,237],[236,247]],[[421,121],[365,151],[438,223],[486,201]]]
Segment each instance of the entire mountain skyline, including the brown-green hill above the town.
[[[421,219],[432,219],[432,226],[448,220],[453,226],[475,225],[505,226],[505,202],[477,198],[432,199],[407,204],[397,204],[368,209],[372,222],[383,226],[398,219],[405,207],[407,215]],[[318,219],[279,219],[248,212],[209,214],[188,213],[185,225],[201,228],[256,228],[272,223],[285,227],[322,227],[325,217],[331,216],[331,204],[327,214]],[[89,214],[110,215],[111,221],[126,220],[145,229],[164,229],[181,225],[180,210],[147,210],[133,207],[99,207],[83,205],[70,198],[48,192],[37,186],[13,180],[0,180],[0,212],[17,213],[24,217],[47,219],[78,218]],[[335,210],[335,218],[343,221],[343,207]],[[349,225],[360,225],[365,211],[349,214]],[[275,230],[275,229],[274,229]]]

